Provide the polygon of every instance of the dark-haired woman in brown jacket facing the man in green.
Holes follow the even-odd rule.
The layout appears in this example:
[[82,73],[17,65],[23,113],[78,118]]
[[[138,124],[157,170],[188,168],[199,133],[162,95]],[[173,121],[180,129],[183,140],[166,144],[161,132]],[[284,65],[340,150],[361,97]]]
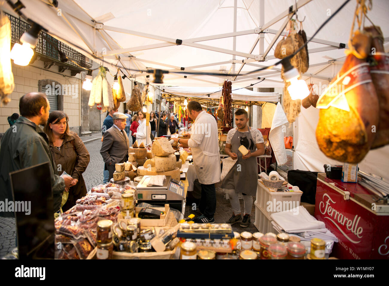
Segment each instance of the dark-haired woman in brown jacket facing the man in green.
[[49,138],[49,147],[58,174],[64,171],[72,176],[67,202],[62,211],[67,211],[75,202],[86,195],[86,185],[82,173],[89,164],[89,152],[77,133],[69,131],[69,118],[61,111],[53,111],[49,115],[45,126],[45,133]]

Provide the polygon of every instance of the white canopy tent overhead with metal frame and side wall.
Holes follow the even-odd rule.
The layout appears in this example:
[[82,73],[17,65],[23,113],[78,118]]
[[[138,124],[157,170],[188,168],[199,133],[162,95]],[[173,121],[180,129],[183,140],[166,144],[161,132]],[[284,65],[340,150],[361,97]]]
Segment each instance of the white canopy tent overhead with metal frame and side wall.
[[[107,66],[111,72],[123,67],[123,72],[133,80],[146,82],[147,73],[142,70],[159,68],[169,72],[164,74],[163,85],[218,87],[229,79],[234,89],[256,84],[260,77],[266,80],[253,87],[284,86],[281,66],[253,71],[277,62],[274,48],[280,36],[286,35],[284,28],[296,11],[295,0],[59,0],[58,7],[51,0],[21,2],[25,5],[21,12],[50,35]],[[306,17],[303,28],[308,39],[342,3],[297,1],[299,19]],[[308,43],[310,65],[303,79],[321,87],[338,72],[344,60],[344,49],[339,47],[344,44],[347,48],[355,5],[356,1],[345,5]],[[16,15],[8,4],[2,5],[2,9]],[[389,50],[388,12],[387,0],[374,0],[368,12],[384,33],[385,51]],[[183,69],[218,75],[180,73]],[[232,76],[235,73],[238,75]],[[294,128],[298,130],[294,136],[294,168],[322,171],[322,165],[329,160],[314,137],[319,112],[313,107],[301,109]],[[384,173],[389,169],[388,148],[371,151],[361,168],[367,166],[365,171],[387,177]]]

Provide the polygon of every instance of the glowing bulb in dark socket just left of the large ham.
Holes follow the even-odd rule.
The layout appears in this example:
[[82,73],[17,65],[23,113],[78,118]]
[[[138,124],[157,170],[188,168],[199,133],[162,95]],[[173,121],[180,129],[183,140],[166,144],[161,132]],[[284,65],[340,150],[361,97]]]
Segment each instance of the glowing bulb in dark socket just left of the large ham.
[[282,65],[284,66],[285,81],[291,83],[287,89],[292,100],[306,98],[309,95],[309,89],[305,80],[297,79],[300,77],[298,70],[291,65],[289,58],[285,58]]

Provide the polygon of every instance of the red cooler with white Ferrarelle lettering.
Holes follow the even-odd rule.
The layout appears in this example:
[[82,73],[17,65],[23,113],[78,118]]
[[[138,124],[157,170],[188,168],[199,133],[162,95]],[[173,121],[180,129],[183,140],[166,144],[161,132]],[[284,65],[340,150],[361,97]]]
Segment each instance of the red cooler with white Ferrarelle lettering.
[[339,239],[331,256],[389,258],[389,204],[358,183],[343,183],[319,173],[315,218]]

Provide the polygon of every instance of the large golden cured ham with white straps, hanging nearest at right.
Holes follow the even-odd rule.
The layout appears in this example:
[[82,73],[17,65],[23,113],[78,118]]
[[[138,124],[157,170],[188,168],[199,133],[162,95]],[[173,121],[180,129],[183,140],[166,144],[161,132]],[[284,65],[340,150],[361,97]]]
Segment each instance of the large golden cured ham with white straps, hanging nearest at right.
[[[317,101],[321,108],[317,143],[327,157],[341,162],[361,162],[375,137],[372,128],[378,124],[379,106],[366,62],[370,46],[370,35],[357,30],[345,63]],[[340,92],[335,89],[338,85]]]

